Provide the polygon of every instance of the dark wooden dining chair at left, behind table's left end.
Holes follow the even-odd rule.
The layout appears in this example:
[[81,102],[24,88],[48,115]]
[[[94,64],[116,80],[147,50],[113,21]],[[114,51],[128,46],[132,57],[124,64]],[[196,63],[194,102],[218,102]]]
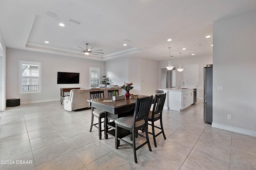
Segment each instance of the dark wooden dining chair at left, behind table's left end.
[[[89,91],[89,96],[90,96],[90,99],[100,99],[100,98],[104,97],[104,91]],[[104,129],[102,130],[102,128],[101,128],[102,127],[101,124],[104,123],[104,121],[105,121],[104,120],[102,122],[101,119],[102,118],[105,119],[106,112],[102,111],[100,109],[93,108],[93,107],[91,107],[91,109],[92,109],[92,120],[91,120],[90,132],[92,132],[92,126],[98,128],[99,138],[101,140],[101,136],[102,136],[101,132],[104,131]],[[98,118],[98,123],[93,123],[94,117]]]

